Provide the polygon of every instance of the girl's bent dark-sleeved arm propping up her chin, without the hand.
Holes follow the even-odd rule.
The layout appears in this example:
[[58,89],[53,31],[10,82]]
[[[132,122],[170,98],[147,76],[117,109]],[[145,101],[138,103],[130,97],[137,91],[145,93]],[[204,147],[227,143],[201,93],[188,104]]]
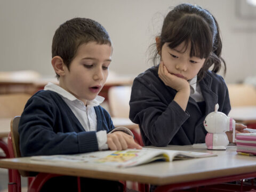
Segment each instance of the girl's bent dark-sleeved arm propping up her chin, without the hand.
[[146,145],[168,145],[188,117],[189,114],[171,98],[160,79],[151,79],[148,82],[134,80],[130,119],[140,124]]

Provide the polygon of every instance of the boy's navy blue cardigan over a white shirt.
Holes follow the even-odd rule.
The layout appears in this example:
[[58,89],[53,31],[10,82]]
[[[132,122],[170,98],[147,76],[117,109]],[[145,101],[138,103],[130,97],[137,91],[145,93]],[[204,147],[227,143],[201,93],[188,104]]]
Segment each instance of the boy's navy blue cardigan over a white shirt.
[[[97,131],[114,129],[108,112],[94,107]],[[86,132],[58,93],[38,91],[31,97],[19,123],[22,156],[78,154],[97,151],[95,131]]]

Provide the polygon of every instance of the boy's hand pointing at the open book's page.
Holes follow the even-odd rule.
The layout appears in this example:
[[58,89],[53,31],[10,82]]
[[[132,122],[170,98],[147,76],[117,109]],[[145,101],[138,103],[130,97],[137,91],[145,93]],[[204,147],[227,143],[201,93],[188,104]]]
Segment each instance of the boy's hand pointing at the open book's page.
[[131,135],[122,131],[107,134],[107,144],[110,150],[125,150],[127,148],[142,149]]

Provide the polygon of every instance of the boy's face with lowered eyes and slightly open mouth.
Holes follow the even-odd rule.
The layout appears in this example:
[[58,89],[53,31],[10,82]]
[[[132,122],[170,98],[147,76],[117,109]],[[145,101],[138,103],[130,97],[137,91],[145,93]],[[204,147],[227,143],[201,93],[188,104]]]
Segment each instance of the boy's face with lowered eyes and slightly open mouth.
[[112,49],[109,44],[89,42],[77,49],[69,70],[60,77],[60,86],[86,104],[101,91],[108,77]]

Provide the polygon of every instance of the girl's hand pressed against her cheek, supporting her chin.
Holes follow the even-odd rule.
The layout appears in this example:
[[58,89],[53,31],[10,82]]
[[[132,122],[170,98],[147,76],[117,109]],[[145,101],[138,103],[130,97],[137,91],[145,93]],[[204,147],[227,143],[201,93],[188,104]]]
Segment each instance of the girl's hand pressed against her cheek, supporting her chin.
[[170,86],[172,89],[175,89],[178,92],[189,89],[189,83],[186,81],[186,79],[170,74],[163,61],[160,62],[158,76],[162,79],[166,86]]

